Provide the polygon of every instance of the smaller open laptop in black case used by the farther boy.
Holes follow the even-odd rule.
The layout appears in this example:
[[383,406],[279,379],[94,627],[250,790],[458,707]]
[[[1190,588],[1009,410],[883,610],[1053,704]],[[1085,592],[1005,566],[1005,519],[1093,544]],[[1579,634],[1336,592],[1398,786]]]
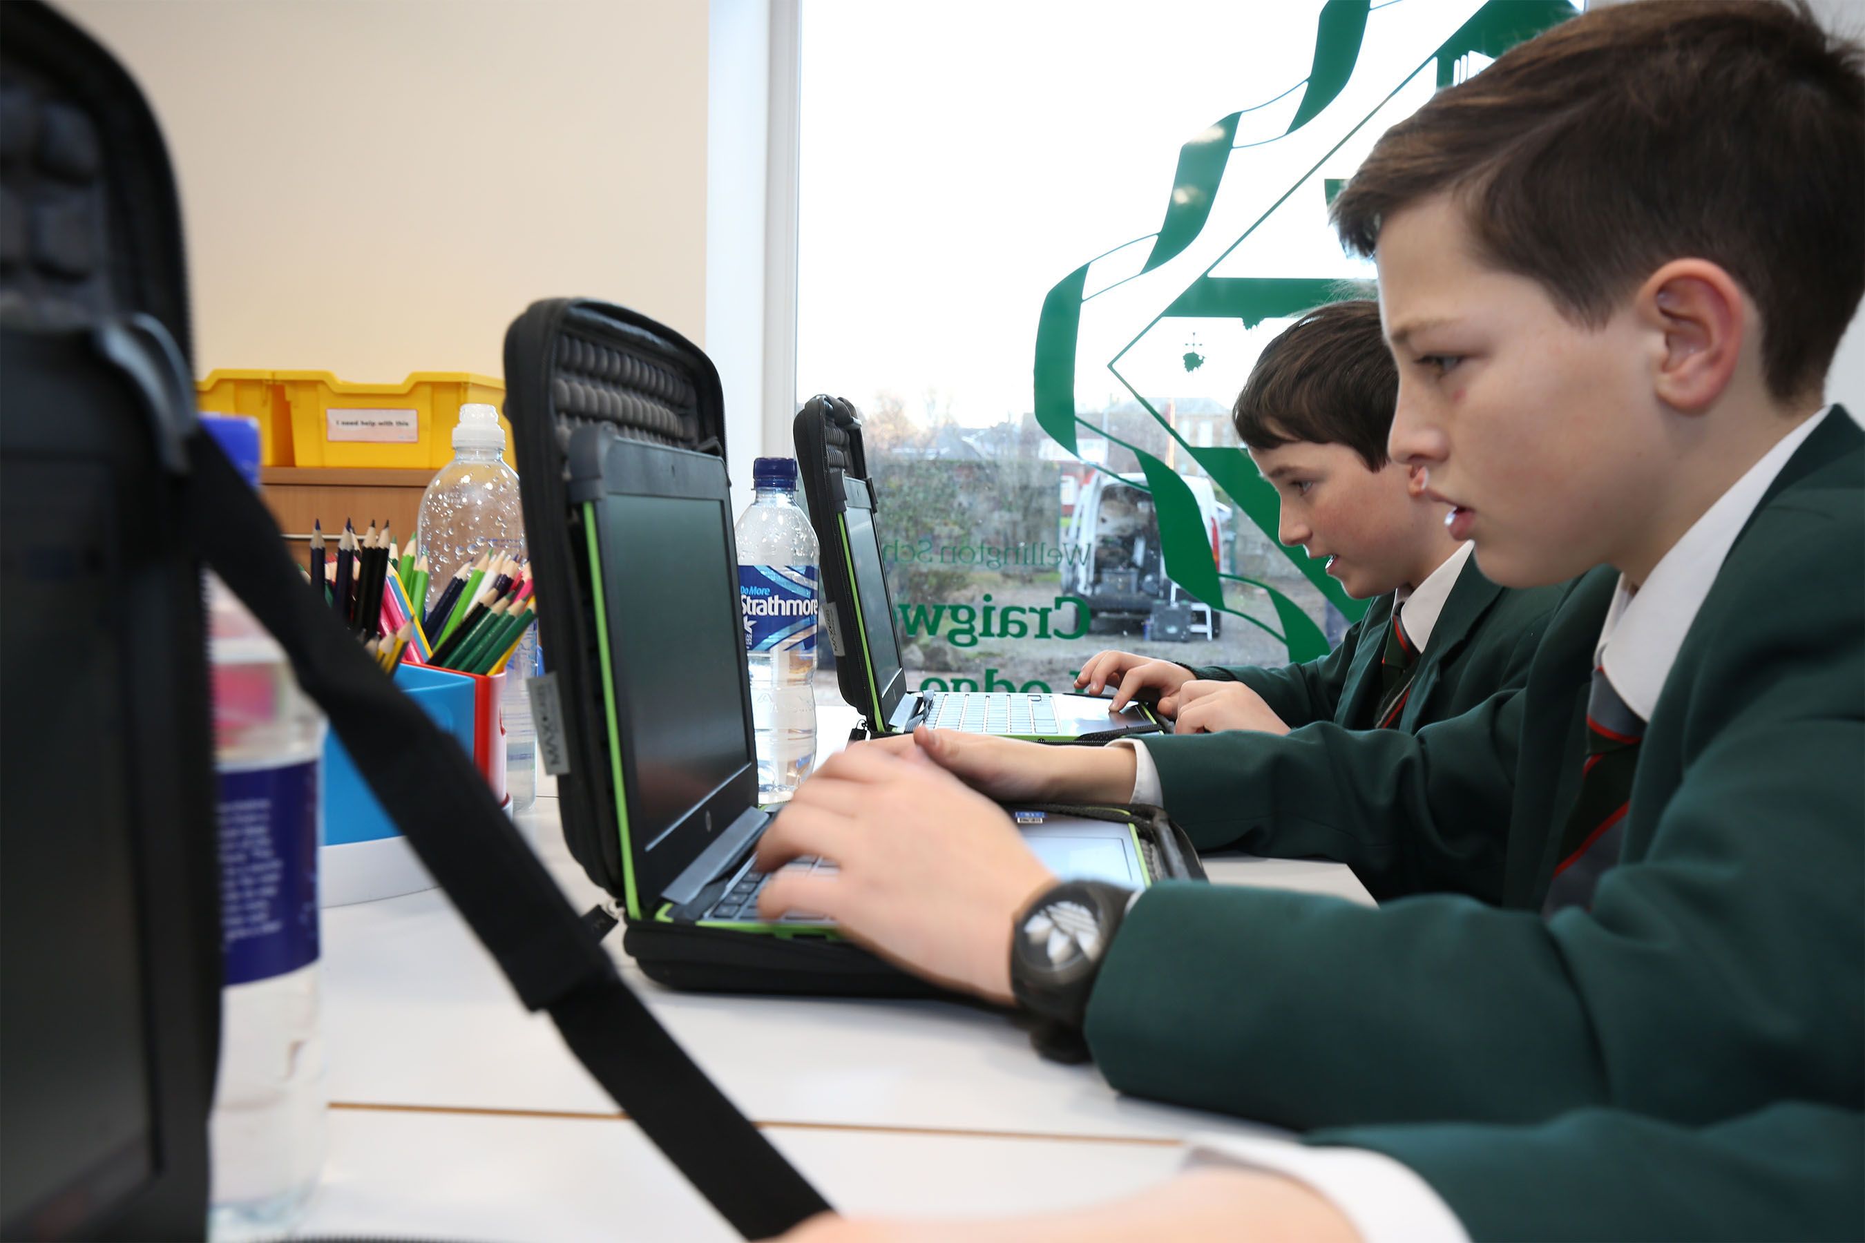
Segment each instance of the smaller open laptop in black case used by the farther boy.
[[862,710],[871,734],[929,725],[1033,742],[1112,742],[1166,729],[1147,703],[1110,712],[1108,699],[1095,695],[908,691],[854,406],[811,397],[794,436],[809,522],[822,544],[824,628],[843,699]]

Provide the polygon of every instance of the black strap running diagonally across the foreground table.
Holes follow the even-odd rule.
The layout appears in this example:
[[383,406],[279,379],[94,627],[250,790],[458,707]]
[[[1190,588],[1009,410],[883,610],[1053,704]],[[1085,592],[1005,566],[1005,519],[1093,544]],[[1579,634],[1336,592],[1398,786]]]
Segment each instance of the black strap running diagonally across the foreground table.
[[395,690],[291,563],[270,512],[201,430],[186,440],[201,557],[291,656],[369,788],[532,1010],[744,1237],[828,1204],[673,1042],[587,934],[459,744]]

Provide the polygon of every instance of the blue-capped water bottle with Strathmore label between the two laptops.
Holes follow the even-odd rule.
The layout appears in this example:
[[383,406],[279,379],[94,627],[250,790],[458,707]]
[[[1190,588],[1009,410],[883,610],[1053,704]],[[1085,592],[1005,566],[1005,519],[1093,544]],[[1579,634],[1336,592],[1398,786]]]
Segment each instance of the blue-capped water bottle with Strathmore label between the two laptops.
[[757,798],[778,803],[815,764],[817,539],[796,507],[796,460],[752,464],[752,503],[739,516],[739,598],[752,665]]

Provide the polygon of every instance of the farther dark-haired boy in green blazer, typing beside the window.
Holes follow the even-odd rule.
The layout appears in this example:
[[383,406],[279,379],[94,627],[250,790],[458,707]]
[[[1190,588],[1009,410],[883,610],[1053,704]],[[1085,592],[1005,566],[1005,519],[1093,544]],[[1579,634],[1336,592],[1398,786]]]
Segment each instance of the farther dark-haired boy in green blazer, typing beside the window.
[[1115,710],[1151,688],[1181,734],[1287,734],[1315,721],[1416,732],[1520,690],[1559,589],[1498,587],[1451,539],[1425,470],[1386,455],[1397,395],[1380,307],[1361,298],[1309,311],[1270,341],[1231,412],[1281,499],[1278,539],[1324,557],[1347,594],[1376,596],[1333,652],[1259,669],[1108,650],[1076,686],[1098,695],[1117,684]]

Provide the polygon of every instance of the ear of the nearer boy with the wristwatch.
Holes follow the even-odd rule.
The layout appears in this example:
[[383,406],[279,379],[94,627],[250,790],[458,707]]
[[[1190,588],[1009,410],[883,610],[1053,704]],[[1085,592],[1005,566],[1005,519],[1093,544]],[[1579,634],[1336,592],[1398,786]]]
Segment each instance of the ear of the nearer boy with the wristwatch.
[[1639,287],[1634,306],[1664,341],[1652,375],[1658,399],[1684,414],[1706,410],[1729,388],[1755,330],[1742,287],[1708,259],[1673,259]]

